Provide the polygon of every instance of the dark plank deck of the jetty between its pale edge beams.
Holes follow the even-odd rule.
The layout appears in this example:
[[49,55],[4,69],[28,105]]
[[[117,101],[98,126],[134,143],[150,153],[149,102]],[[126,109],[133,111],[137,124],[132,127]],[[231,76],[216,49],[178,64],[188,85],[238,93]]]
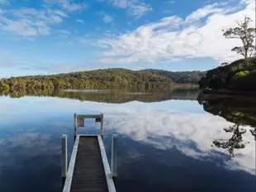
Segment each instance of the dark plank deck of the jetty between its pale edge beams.
[[80,137],[71,192],[108,192],[102,155],[96,136]]

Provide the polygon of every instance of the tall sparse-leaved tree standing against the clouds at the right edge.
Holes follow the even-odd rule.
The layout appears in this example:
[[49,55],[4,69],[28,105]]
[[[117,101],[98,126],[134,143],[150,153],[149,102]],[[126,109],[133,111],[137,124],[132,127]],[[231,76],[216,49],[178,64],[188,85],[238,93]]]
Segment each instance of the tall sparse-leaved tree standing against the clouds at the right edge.
[[238,54],[242,54],[244,59],[248,59],[255,55],[255,34],[256,29],[254,27],[250,27],[249,24],[252,22],[249,16],[244,15],[244,21],[236,21],[237,27],[230,28],[227,30],[223,30],[224,36],[227,39],[239,39],[242,40],[243,45],[239,47],[235,47],[231,49]]

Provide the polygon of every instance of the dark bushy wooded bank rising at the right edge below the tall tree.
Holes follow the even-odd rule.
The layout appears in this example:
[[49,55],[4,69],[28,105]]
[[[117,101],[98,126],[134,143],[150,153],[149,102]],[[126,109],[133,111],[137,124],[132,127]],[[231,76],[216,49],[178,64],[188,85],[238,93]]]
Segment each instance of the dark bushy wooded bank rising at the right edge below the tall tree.
[[256,57],[247,62],[239,59],[233,63],[211,69],[202,77],[199,86],[216,91],[255,92],[256,91]]

